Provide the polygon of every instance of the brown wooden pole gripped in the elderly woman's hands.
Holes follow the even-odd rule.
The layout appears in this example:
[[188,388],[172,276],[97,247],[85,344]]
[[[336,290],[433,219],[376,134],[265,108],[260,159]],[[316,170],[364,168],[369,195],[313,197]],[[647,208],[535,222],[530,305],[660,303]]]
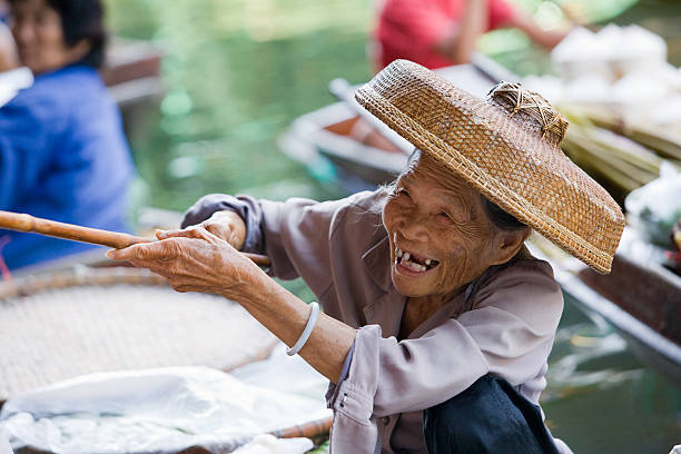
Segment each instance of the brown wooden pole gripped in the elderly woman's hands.
[[[31,215],[23,215],[0,210],[0,228],[10,230],[34,233],[51,237],[70,239],[72,241],[89,243],[93,245],[108,246],[114,249],[124,249],[138,243],[151,243],[154,238],[145,238],[118,231],[100,230],[97,228],[76,226],[72,224],[58,223]],[[269,258],[259,254],[241,253],[256,265],[270,266]]]

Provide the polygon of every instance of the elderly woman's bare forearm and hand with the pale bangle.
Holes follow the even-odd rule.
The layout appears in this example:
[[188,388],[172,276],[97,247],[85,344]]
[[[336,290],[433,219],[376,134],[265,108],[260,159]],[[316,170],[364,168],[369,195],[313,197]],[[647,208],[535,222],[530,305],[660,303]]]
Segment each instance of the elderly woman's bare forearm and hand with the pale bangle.
[[[223,220],[217,224],[223,226]],[[178,292],[217,294],[235,300],[285,344],[295,345],[310,307],[229,243],[203,226],[159,231],[157,237],[159,241],[136,244],[107,255],[149,268],[166,277]],[[354,328],[322,314],[300,356],[337,383],[354,339]]]

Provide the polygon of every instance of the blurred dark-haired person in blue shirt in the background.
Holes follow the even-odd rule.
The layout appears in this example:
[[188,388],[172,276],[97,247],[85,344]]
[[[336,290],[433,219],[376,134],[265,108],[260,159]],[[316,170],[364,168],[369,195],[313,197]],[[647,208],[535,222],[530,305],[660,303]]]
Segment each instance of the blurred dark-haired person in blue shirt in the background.
[[[134,174],[120,112],[98,73],[99,0],[10,0],[21,65],[36,80],[0,108],[0,209],[126,230]],[[6,68],[11,69],[11,68]],[[92,246],[0,230],[10,269]]]

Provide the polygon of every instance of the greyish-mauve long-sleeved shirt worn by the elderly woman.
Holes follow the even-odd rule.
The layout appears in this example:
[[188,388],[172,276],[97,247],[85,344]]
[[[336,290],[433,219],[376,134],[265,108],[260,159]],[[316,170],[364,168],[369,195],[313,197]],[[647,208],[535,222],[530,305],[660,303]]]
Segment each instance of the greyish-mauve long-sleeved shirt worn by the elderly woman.
[[247,224],[246,250],[267,254],[276,277],[303,277],[326,314],[358,328],[346,376],[329,393],[336,453],[425,453],[423,409],[486,373],[537,403],[563,309],[551,266],[527,255],[490,268],[398,340],[406,298],[391,279],[385,196],[274,203],[210,195],[184,221],[236,210]]

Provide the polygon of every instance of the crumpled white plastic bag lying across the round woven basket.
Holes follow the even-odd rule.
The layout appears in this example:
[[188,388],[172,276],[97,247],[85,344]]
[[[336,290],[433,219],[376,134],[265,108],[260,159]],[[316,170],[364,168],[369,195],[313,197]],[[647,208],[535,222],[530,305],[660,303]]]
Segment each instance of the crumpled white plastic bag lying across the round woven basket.
[[258,434],[332,415],[324,401],[328,382],[300,358],[280,358],[283,352],[239,371],[239,378],[175,367],[61,382],[10,398],[0,428],[14,448],[53,453],[171,452],[195,445],[233,452]]

